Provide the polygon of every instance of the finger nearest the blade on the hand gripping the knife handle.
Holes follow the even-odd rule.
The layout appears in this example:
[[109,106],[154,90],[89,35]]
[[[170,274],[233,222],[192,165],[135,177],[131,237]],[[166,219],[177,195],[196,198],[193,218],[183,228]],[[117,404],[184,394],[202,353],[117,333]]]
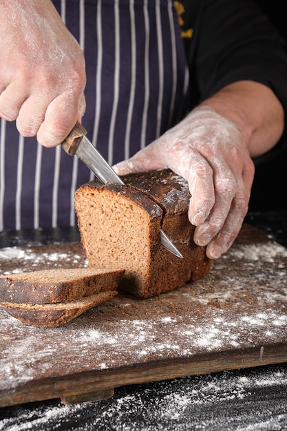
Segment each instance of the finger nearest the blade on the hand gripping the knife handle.
[[[81,99],[81,97],[80,97]],[[63,142],[80,116],[78,96],[63,93],[47,107],[43,123],[37,133],[38,142],[44,147],[55,147]]]

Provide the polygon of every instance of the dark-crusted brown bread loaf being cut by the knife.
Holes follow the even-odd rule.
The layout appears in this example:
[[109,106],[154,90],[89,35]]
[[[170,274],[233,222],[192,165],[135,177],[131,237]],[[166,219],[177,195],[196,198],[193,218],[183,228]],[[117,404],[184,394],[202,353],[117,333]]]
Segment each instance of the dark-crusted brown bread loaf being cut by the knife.
[[[97,180],[76,191],[76,212],[89,267],[125,268],[119,288],[147,298],[198,280],[211,269],[195,245],[189,187],[169,169],[123,176],[125,185]],[[160,244],[160,229],[183,259]]]

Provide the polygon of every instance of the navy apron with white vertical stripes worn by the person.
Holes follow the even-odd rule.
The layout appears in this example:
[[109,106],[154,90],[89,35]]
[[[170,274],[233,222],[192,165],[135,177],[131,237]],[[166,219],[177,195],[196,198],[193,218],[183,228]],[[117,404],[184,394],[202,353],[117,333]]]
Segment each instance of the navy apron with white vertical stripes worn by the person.
[[[189,76],[172,0],[55,0],[85,53],[83,125],[111,165],[182,117]],[[92,178],[61,146],[0,123],[0,231],[76,224],[74,192]]]

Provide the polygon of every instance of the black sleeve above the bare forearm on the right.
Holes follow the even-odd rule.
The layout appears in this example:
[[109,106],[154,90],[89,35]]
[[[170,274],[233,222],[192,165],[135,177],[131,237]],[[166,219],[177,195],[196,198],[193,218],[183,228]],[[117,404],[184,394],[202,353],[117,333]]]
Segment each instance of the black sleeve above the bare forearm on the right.
[[193,5],[185,13],[193,28],[186,41],[191,107],[225,85],[251,80],[273,90],[287,117],[287,46],[267,15],[253,0],[193,0]]

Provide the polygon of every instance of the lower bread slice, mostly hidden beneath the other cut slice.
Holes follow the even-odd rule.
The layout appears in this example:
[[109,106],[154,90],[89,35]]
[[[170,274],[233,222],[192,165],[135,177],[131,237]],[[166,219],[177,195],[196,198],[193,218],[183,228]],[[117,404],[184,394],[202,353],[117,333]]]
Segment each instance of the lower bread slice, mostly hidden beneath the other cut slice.
[[75,299],[74,301],[59,302],[56,304],[13,304],[4,302],[1,306],[12,317],[25,324],[48,328],[60,326],[70,322],[85,311],[101,302],[117,295],[116,291],[96,293]]

